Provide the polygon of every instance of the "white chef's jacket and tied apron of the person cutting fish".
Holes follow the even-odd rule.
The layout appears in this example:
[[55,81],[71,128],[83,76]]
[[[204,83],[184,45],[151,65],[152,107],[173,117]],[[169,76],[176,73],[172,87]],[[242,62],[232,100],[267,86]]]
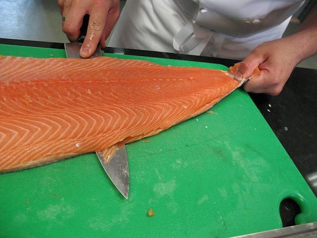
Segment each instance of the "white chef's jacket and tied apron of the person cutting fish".
[[243,59],[305,0],[127,0],[108,46]]

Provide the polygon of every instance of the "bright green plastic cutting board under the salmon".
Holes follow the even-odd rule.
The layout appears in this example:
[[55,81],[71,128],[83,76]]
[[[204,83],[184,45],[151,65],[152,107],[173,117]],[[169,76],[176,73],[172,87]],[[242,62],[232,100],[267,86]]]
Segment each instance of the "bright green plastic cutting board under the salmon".
[[[0,45],[0,54],[65,57],[63,50],[7,45]],[[0,237],[232,237],[281,228],[284,198],[299,204],[297,224],[317,221],[316,196],[243,90],[211,113],[128,144],[127,154],[128,200],[94,153],[1,174]]]

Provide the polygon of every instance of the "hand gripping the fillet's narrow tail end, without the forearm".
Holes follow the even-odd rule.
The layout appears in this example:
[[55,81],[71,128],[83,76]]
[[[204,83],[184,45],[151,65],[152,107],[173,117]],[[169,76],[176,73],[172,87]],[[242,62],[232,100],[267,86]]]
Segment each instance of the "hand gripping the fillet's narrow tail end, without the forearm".
[[244,85],[246,92],[278,95],[294,67],[300,62],[298,46],[291,39],[281,38],[265,42],[245,58],[235,73],[238,79],[248,78],[259,67],[260,75]]

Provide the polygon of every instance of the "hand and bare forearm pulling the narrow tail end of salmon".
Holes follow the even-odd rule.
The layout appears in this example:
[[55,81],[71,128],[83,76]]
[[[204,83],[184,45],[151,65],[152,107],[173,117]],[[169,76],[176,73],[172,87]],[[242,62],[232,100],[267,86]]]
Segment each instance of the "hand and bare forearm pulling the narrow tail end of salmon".
[[260,75],[244,85],[247,92],[278,95],[294,67],[317,54],[317,5],[311,10],[298,32],[265,42],[244,59],[235,73],[237,79],[248,78],[256,67]]

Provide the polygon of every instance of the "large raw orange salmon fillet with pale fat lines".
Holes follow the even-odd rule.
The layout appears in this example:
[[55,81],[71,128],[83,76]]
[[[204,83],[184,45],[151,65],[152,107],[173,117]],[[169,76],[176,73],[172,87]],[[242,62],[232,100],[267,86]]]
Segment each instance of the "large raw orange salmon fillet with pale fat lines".
[[0,56],[0,172],[157,134],[242,82],[221,70],[143,60]]

